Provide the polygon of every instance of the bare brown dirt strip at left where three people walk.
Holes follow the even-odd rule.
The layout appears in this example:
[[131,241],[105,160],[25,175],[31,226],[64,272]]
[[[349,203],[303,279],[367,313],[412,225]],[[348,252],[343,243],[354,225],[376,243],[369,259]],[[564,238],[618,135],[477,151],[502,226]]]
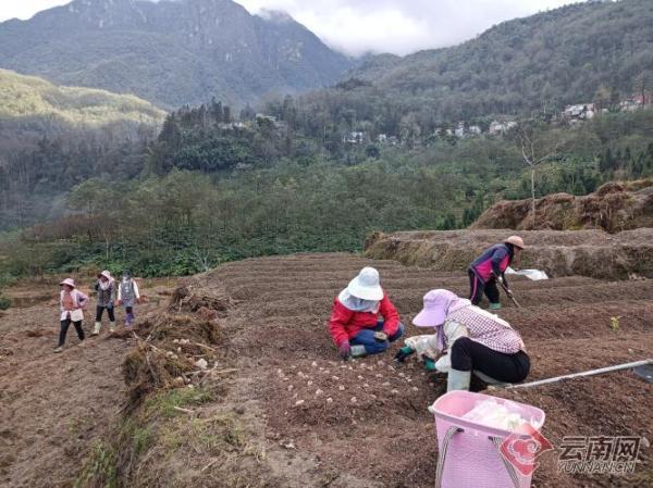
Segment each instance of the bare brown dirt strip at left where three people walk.
[[[71,327],[64,352],[54,354],[58,309],[48,288],[12,291],[19,306],[0,316],[0,486],[72,487],[124,404],[120,365],[132,341],[108,338],[104,323],[102,335],[79,343]],[[156,300],[140,306],[139,316],[161,299],[145,292]],[[85,318],[88,334],[91,313]]]

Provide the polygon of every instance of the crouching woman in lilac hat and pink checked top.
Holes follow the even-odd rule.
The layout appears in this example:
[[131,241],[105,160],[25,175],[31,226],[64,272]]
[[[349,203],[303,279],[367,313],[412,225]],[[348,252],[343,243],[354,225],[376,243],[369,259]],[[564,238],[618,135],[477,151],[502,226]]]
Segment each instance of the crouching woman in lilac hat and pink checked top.
[[493,383],[519,383],[528,376],[530,359],[519,333],[448,290],[424,295],[423,308],[412,323],[433,327],[435,334],[406,339],[406,347],[395,358],[403,362],[417,352],[432,361],[445,353],[435,362],[435,370],[448,374],[447,391],[468,390],[472,372]]

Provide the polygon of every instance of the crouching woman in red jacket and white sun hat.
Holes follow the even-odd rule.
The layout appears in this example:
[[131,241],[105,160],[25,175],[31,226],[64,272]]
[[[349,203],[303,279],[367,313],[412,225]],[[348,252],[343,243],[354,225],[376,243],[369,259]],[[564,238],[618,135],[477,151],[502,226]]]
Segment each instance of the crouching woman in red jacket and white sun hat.
[[364,267],[340,292],[333,302],[329,330],[345,361],[383,352],[404,335],[404,324],[381,288],[377,270]]

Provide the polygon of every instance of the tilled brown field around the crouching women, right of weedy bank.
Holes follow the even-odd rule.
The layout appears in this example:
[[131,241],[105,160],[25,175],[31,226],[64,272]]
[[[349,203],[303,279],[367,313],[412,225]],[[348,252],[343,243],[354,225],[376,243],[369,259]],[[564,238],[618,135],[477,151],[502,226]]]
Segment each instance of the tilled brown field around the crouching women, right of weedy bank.
[[[281,450],[287,460],[284,486],[433,486],[436,437],[427,406],[442,393],[445,378],[427,374],[415,361],[396,368],[398,345],[345,363],[326,330],[334,297],[365,265],[379,268],[408,335],[418,334],[409,324],[426,291],[468,290],[464,273],[350,254],[248,260],[186,281],[197,296],[219,295],[230,302],[222,324],[242,372],[230,399],[248,405],[271,452]],[[652,280],[514,278],[513,288],[523,308],[504,303],[502,315],[523,336],[533,363],[530,380],[653,353]],[[638,470],[628,477],[565,475],[556,454],[545,454],[533,486],[563,488],[653,486],[651,393],[653,387],[629,371],[493,391],[542,408],[543,434],[554,445],[564,436],[645,438]]]

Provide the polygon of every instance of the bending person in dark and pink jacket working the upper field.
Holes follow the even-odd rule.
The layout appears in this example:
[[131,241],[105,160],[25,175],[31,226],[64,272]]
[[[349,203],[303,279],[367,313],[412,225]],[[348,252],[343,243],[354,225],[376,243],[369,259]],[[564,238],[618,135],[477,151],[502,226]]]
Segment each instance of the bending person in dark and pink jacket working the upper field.
[[505,271],[513,262],[519,262],[521,250],[525,248],[523,239],[510,236],[502,243],[492,246],[469,265],[469,300],[478,305],[483,293],[490,301],[490,310],[501,309],[498,288],[496,281],[505,286],[507,293],[512,295]]

